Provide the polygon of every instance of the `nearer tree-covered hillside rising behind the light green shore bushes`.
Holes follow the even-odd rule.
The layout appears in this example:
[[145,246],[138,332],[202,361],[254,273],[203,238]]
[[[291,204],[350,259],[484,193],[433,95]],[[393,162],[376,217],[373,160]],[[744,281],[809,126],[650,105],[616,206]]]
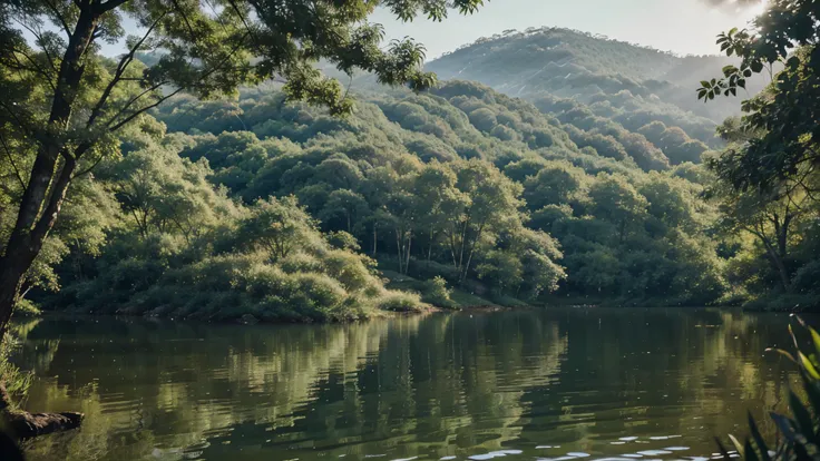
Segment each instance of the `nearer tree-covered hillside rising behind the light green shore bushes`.
[[283,98],[271,87],[235,104],[178,98],[157,117],[215,185],[245,203],[294,195],[382,271],[495,300],[557,286],[666,304],[723,294],[704,171],[670,166],[642,135],[585,131],[465,81],[358,95],[348,119]]

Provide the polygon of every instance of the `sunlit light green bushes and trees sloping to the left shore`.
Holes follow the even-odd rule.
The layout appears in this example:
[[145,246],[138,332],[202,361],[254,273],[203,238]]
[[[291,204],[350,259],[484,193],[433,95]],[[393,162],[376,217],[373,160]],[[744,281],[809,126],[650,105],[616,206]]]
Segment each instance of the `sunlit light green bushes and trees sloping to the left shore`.
[[[213,171],[205,159],[193,163],[169,147],[133,151],[99,171],[124,222],[99,257],[80,258],[86,276],[59,267],[71,284],[43,298],[49,307],[342,321],[368,317],[383,297],[396,297],[374,275],[374,263],[354,253],[352,236],[325,239],[293,196],[237,204],[207,182]],[[412,296],[402,300],[421,305]]]

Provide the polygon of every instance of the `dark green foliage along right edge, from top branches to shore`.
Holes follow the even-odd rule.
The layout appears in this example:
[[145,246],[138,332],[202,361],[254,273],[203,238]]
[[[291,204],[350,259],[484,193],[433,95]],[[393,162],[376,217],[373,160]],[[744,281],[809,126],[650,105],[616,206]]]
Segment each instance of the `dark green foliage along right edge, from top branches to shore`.
[[820,256],[817,18],[814,2],[768,3],[755,29],[719,36],[721,51],[741,62],[725,66],[720,79],[701,81],[697,90],[712,104],[721,95],[736,96],[764,70],[772,78],[742,101],[742,118],[719,127],[728,148],[704,156],[715,178],[707,196],[720,205],[720,229],[739,247],[728,275],[754,307],[820,305],[813,282]]

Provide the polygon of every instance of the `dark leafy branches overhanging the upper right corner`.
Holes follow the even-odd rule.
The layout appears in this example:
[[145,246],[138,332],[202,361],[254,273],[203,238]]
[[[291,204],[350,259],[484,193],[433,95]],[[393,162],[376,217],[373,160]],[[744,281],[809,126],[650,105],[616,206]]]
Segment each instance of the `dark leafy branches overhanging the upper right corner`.
[[[754,73],[773,79],[761,96],[741,104],[743,129],[760,136],[714,164],[721,178],[743,190],[778,188],[800,179],[806,165],[820,165],[820,9],[811,0],[772,0],[753,26],[719,36],[721,51],[741,62],[724,67],[722,77],[703,80],[697,89],[697,98],[710,101],[736,96]],[[783,66],[777,75],[775,63]]]

